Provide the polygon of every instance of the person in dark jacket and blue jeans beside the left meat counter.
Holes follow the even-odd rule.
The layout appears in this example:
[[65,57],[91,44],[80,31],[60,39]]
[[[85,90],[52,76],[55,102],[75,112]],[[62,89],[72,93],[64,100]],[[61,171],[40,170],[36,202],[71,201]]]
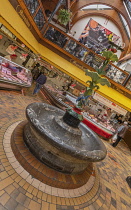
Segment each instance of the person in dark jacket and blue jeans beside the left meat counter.
[[42,85],[46,83],[47,77],[44,74],[41,74],[37,79],[36,79],[36,86],[33,92],[33,95],[38,93],[39,90],[41,89]]

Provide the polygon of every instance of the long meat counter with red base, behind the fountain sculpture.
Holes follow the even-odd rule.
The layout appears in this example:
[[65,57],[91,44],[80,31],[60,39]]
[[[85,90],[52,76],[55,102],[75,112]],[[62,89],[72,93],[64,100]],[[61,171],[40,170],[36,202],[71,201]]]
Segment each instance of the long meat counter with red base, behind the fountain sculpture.
[[[69,92],[58,91],[55,88],[45,85],[41,90],[46,97],[50,100],[53,105],[65,110],[67,107],[74,107],[76,97],[73,96]],[[111,125],[97,123],[94,121],[92,117],[87,116],[86,113],[83,113],[84,120],[82,121],[89,128],[91,128],[94,132],[96,132],[100,137],[108,140],[112,137],[115,130],[111,127]]]

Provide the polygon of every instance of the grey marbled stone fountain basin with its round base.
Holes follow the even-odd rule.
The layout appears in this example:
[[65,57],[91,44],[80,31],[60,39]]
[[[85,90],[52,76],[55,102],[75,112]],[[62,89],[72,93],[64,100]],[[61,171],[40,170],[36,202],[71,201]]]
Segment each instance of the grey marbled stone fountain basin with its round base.
[[47,166],[76,174],[84,171],[90,162],[103,160],[107,151],[99,137],[83,123],[77,128],[66,124],[64,114],[45,103],[30,104],[26,108],[24,141]]

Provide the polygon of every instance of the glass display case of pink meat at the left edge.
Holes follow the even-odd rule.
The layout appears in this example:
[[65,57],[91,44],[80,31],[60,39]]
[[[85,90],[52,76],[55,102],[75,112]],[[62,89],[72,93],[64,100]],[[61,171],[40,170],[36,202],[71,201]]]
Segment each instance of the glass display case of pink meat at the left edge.
[[0,81],[30,87],[31,71],[0,56]]

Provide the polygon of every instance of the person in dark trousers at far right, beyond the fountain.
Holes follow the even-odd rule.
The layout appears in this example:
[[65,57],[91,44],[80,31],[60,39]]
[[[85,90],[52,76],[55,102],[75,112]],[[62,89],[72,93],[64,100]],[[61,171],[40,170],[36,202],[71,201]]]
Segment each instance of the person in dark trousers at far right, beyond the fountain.
[[128,126],[127,126],[127,125],[128,125],[128,122],[124,122],[124,124],[121,125],[121,126],[118,128],[118,130],[117,130],[117,139],[116,139],[116,141],[112,144],[113,147],[116,147],[117,144],[120,142],[120,140],[121,140],[122,138],[124,138],[125,133],[126,133],[126,131],[127,131],[127,129],[128,129]]

